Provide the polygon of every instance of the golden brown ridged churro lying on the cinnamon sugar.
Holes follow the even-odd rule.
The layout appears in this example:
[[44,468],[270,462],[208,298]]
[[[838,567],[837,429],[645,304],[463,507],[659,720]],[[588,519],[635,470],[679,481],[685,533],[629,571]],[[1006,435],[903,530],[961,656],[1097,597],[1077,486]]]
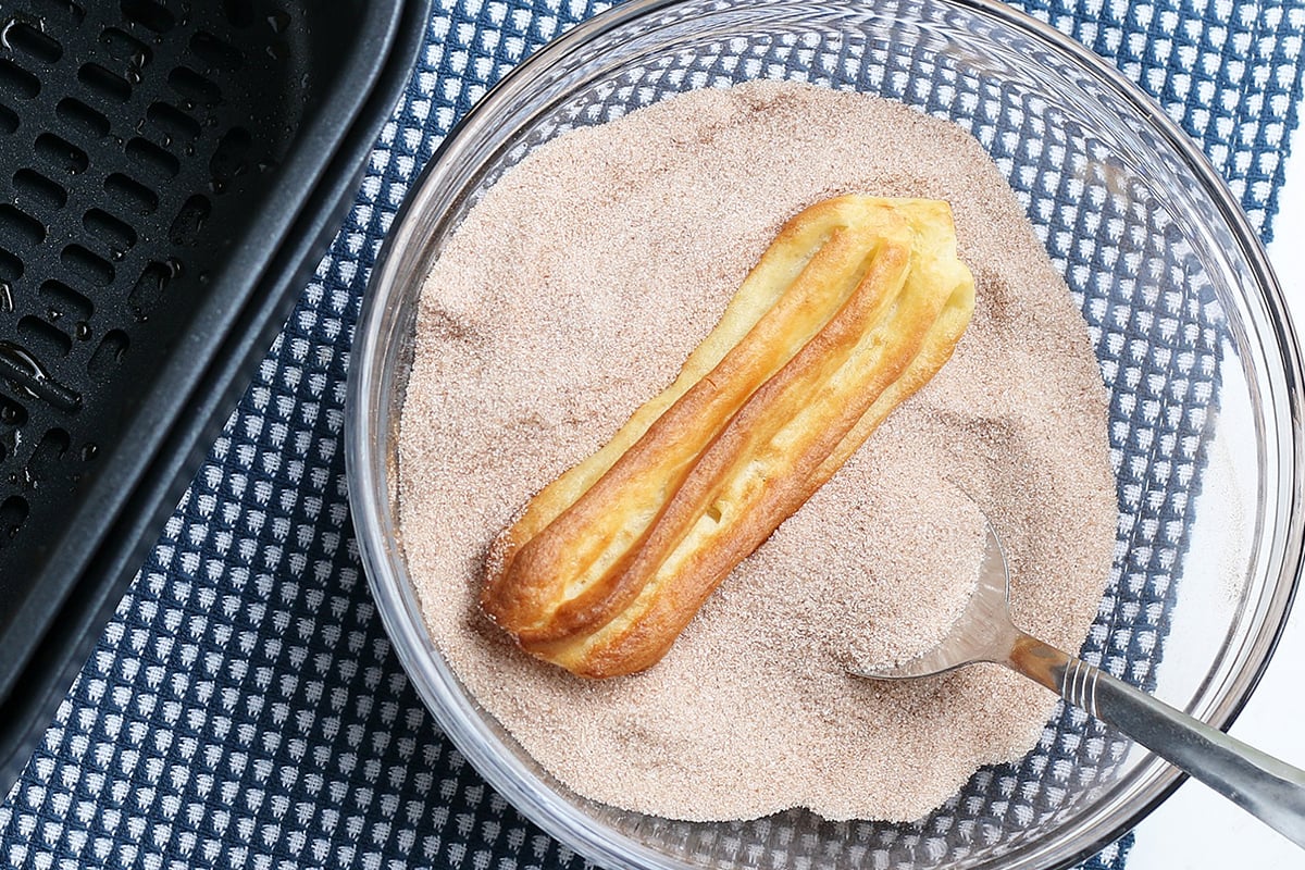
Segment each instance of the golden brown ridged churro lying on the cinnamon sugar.
[[491,549],[480,605],[585,677],[655,664],[724,577],[951,356],[974,310],[951,209],[801,211],[675,382]]

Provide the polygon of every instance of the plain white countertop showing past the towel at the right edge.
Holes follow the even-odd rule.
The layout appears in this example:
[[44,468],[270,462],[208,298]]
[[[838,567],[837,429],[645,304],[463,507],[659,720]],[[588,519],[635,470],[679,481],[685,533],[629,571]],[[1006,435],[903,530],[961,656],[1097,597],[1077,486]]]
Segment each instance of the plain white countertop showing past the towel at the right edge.
[[[1298,334],[1305,334],[1305,137],[1287,163],[1268,256]],[[1305,596],[1263,681],[1229,729],[1235,737],[1305,768]],[[1278,870],[1305,867],[1305,852],[1199,783],[1186,781],[1137,827],[1128,870]]]

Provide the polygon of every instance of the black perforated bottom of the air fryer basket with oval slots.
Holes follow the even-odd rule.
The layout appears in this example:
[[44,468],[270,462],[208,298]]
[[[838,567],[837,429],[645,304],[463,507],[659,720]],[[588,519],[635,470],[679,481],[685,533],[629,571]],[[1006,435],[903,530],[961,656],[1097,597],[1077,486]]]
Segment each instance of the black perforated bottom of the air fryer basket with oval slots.
[[0,600],[30,592],[257,211],[311,89],[301,16],[0,7]]

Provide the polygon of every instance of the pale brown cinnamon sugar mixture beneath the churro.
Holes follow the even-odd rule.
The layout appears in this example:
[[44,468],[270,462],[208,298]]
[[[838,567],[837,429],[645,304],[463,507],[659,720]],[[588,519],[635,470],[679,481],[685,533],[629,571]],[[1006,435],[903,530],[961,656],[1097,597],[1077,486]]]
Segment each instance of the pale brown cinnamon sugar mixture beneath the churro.
[[[979,293],[951,361],[660,664],[587,682],[517,651],[475,605],[491,540],[671,382],[788,217],[852,192],[951,202]],[[883,685],[846,664],[946,633],[983,548],[970,497],[1009,548],[1017,618],[1067,648],[1114,541],[1087,327],[997,168],[947,123],[795,83],[568,133],[493,187],[422,291],[399,485],[431,634],[480,704],[576,792],[694,820],[908,820],[1019,758],[1054,706],[1032,682],[983,665]]]

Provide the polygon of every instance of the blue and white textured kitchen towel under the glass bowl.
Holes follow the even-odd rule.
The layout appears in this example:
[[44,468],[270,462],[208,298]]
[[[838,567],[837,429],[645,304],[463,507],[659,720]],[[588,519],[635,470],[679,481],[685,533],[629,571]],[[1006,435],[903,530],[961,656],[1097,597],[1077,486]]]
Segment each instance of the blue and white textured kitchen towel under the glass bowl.
[[[1305,0],[1024,8],[1155,95],[1268,236],[1297,120]],[[358,561],[342,424],[361,293],[408,185],[492,82],[598,9],[559,0],[437,3],[343,230],[0,806],[0,863],[581,865],[482,783],[408,686]],[[1092,322],[1090,307],[1084,312]],[[1094,326],[1103,334],[1103,365],[1144,364],[1107,340],[1109,323]],[[1195,334],[1188,350],[1216,352],[1202,330]],[[1116,399],[1129,408],[1147,402],[1141,393],[1148,381],[1139,382],[1131,398]],[[1121,413],[1128,419],[1117,406]],[[1181,437],[1161,441],[1186,449]],[[1144,517],[1144,505],[1125,494],[1130,476],[1146,483],[1152,471],[1122,466],[1121,507],[1133,518],[1130,548],[1159,553],[1181,545],[1184,523],[1165,520],[1182,517]],[[1154,567],[1138,565],[1137,575]],[[1122,640],[1099,637],[1092,652],[1113,659],[1116,670],[1144,665],[1131,676],[1146,682],[1164,631],[1164,591],[1126,580],[1116,590],[1118,604],[1141,616]],[[1062,725],[1084,728],[1069,719]],[[1036,814],[1040,796],[1053,789],[1030,796],[1014,784],[1041,783],[1069,751],[1049,741],[1024,766],[977,776],[967,787],[975,800],[958,817],[981,831],[1005,814]],[[902,837],[928,849],[929,832],[904,830]],[[1128,839],[1086,866],[1121,867],[1126,852]]]

